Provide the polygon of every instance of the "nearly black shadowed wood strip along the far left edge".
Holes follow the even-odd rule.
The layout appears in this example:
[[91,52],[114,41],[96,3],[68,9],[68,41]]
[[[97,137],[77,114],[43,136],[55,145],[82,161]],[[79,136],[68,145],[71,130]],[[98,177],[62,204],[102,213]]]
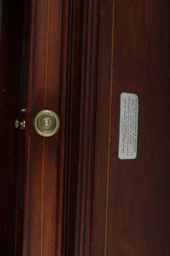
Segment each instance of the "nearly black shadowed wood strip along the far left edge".
[[[0,17],[0,254],[14,255],[15,229],[22,234],[23,191],[17,187],[20,155],[14,119],[19,118],[24,1],[1,1]],[[24,142],[23,142],[24,143]],[[23,172],[23,169],[22,169]],[[22,180],[23,185],[23,180]],[[18,210],[18,218],[16,217]],[[16,221],[17,218],[17,221]],[[21,251],[21,246],[20,246]]]

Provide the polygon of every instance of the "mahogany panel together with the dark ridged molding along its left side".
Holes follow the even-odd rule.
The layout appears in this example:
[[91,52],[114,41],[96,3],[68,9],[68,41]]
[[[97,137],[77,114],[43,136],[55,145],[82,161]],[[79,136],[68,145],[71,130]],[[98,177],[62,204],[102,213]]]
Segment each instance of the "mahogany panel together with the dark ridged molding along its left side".
[[[73,35],[82,51],[73,44],[66,255],[168,255],[169,2],[78,7],[82,28],[75,25]],[[118,158],[122,92],[139,96],[135,160]]]

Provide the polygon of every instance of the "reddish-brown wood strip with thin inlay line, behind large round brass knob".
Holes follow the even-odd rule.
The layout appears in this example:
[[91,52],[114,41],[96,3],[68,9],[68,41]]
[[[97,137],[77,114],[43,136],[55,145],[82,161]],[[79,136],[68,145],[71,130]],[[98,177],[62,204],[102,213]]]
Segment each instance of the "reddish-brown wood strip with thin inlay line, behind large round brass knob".
[[[26,179],[23,255],[61,255],[65,84],[60,66],[64,1],[31,1],[26,106]],[[63,26],[63,30],[65,26]],[[63,58],[65,60],[65,58]],[[61,86],[62,84],[62,86]],[[63,113],[54,137],[40,137],[33,118],[40,110]]]

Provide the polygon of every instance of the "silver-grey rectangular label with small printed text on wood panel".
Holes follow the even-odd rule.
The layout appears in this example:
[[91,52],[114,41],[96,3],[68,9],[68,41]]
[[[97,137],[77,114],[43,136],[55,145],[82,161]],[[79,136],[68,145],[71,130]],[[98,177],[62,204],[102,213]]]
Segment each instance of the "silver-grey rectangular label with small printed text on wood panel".
[[121,160],[137,157],[139,97],[133,93],[121,94],[119,152]]

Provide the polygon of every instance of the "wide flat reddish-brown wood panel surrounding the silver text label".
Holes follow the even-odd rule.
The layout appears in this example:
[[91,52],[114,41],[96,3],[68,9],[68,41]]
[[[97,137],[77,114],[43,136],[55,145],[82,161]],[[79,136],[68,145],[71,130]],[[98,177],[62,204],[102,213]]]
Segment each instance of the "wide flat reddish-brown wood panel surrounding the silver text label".
[[[91,255],[170,253],[168,10],[101,2]],[[135,160],[118,159],[122,92],[139,96]]]

